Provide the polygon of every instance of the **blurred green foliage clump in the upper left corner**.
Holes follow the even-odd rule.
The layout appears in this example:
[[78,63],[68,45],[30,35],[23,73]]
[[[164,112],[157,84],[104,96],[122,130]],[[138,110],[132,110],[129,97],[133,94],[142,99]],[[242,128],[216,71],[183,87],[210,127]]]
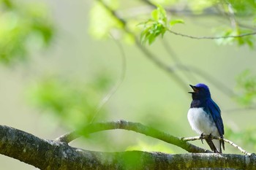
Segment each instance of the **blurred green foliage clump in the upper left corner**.
[[0,62],[12,64],[29,58],[34,46],[47,47],[53,23],[43,4],[2,1],[0,6]]

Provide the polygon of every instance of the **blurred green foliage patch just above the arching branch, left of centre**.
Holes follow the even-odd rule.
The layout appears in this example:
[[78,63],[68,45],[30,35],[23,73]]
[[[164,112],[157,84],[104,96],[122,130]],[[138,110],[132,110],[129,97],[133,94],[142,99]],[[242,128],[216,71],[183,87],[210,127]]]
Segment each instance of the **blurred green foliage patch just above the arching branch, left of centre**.
[[[64,125],[81,128],[94,119],[102,93],[109,85],[110,79],[105,75],[91,83],[45,77],[29,88],[29,99],[34,106],[56,115]],[[105,114],[106,110],[101,110],[100,118]]]

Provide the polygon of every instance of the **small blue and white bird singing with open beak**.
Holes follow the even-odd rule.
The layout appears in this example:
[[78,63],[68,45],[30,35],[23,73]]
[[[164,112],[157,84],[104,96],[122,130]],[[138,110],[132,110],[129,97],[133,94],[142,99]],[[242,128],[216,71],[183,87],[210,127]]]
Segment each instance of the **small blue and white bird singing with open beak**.
[[[187,118],[192,129],[197,134],[220,136],[224,135],[224,125],[218,105],[211,99],[211,93],[207,85],[199,83],[190,85],[193,89],[192,103]],[[203,142],[203,141],[202,141]],[[222,153],[225,150],[224,142],[217,139],[206,139],[207,144],[214,152]]]

